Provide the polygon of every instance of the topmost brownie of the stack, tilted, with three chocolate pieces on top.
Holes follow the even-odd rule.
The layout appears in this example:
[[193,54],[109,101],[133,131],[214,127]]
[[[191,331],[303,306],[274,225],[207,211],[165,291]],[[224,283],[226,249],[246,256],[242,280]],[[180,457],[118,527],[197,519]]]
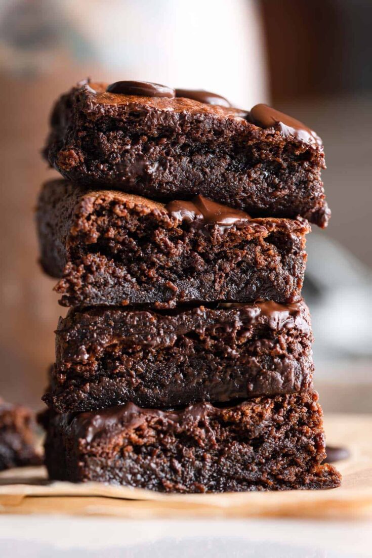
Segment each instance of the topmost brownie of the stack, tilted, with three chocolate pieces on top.
[[160,201],[202,194],[254,216],[327,225],[323,147],[304,124],[266,105],[249,113],[106,89],[85,81],[54,107],[44,154],[65,178]]

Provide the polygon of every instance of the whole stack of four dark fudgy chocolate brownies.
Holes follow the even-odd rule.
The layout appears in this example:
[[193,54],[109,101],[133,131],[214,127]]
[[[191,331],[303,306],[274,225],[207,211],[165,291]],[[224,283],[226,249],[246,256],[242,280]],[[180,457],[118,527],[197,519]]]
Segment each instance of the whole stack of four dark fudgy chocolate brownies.
[[[80,82],[51,116],[37,223],[70,309],[44,401],[51,479],[331,488],[301,299],[330,217],[321,140],[266,105]],[[144,197],[142,197],[144,196]]]

